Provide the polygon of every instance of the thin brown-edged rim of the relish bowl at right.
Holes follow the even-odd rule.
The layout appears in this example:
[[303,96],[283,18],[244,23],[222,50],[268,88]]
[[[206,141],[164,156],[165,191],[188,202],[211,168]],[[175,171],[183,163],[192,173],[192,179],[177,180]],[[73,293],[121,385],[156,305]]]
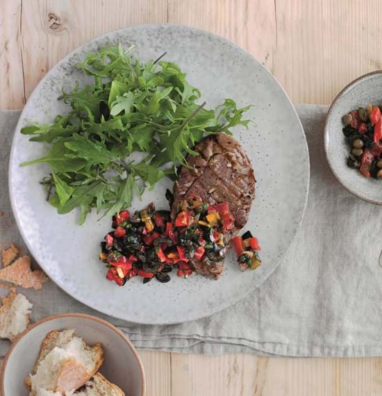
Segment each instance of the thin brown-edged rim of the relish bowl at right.
[[324,152],[325,152],[326,162],[329,164],[329,168],[330,168],[331,172],[333,173],[333,175],[335,176],[335,179],[338,180],[338,182],[342,185],[342,187],[346,188],[346,190],[349,191],[355,197],[360,198],[363,201],[369,202],[369,204],[382,205],[382,199],[380,201],[376,201],[375,199],[368,199],[367,197],[364,197],[363,195],[359,195],[354,190],[351,190],[351,188],[349,188],[349,186],[344,184],[344,182],[342,181],[340,176],[337,174],[337,172],[335,171],[335,169],[331,163],[331,159],[330,159],[331,157],[329,156],[329,152],[328,152],[328,145],[326,144],[326,142],[329,138],[329,129],[328,129],[329,118],[331,118],[331,113],[333,112],[333,107],[335,106],[335,104],[337,104],[338,101],[342,98],[342,96],[344,94],[346,94],[347,91],[349,91],[351,88],[353,88],[354,85],[357,85],[358,83],[362,82],[363,80],[368,79],[369,77],[374,76],[376,74],[382,74],[382,69],[374,70],[374,72],[369,72],[369,73],[363,74],[362,76],[357,77],[356,79],[354,79],[353,81],[351,81],[350,83],[345,85],[344,88],[342,88],[342,90],[340,90],[340,92],[338,92],[338,94],[335,96],[335,98],[331,102],[331,105],[329,106],[329,109],[328,109],[328,113],[326,114],[326,119],[325,119],[325,124],[324,124],[324,133],[323,133],[322,140],[324,142]]

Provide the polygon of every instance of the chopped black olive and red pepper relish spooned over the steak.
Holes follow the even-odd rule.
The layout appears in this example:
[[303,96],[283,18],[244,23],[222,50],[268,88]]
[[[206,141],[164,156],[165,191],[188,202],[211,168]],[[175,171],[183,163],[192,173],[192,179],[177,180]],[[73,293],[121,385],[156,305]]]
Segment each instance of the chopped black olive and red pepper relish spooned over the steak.
[[[101,242],[99,258],[108,267],[107,279],[119,286],[137,276],[143,278],[143,283],[153,277],[166,283],[174,268],[178,277],[187,278],[194,274],[192,260],[208,263],[224,259],[234,221],[226,202],[210,206],[200,197],[192,196],[180,202],[174,222],[169,211],[156,211],[151,203],[134,215],[122,211],[113,217],[114,231]],[[252,246],[254,240],[249,242],[251,248],[258,247],[257,240],[256,247]],[[246,251],[245,254],[254,256]],[[244,256],[239,258],[242,270],[246,265],[251,269],[260,265],[260,259],[258,265],[251,264],[252,261],[250,258],[247,265]]]

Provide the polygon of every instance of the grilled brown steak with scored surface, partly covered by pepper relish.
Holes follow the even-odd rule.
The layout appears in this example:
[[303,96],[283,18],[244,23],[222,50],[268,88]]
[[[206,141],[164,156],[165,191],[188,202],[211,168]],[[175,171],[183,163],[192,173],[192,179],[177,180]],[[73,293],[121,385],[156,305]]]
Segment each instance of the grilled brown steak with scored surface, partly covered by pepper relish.
[[[190,167],[181,167],[174,184],[172,218],[178,213],[178,203],[194,194],[210,205],[228,202],[235,217],[231,234],[247,223],[255,197],[255,176],[247,154],[240,144],[224,133],[209,135],[194,147],[199,156],[189,155]],[[224,261],[203,262],[193,258],[192,264],[199,274],[217,279]]]

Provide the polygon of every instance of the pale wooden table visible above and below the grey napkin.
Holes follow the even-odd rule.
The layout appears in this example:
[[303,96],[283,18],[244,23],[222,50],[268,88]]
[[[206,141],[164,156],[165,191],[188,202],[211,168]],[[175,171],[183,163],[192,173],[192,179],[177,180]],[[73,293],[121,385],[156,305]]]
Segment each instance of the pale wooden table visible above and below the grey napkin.
[[[252,53],[294,103],[329,104],[381,69],[379,0],[0,0],[0,108],[22,108],[50,67],[101,33],[188,24]],[[141,352],[147,395],[382,395],[382,358],[261,358]]]

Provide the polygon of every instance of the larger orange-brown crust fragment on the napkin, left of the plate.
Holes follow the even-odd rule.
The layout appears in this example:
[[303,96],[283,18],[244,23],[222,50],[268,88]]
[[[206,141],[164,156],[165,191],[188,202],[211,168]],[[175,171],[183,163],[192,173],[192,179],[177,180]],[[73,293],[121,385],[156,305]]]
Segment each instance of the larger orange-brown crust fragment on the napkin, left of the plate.
[[31,257],[22,256],[15,263],[0,270],[0,281],[15,283],[22,288],[42,288],[47,281],[47,275],[42,270],[31,270]]

